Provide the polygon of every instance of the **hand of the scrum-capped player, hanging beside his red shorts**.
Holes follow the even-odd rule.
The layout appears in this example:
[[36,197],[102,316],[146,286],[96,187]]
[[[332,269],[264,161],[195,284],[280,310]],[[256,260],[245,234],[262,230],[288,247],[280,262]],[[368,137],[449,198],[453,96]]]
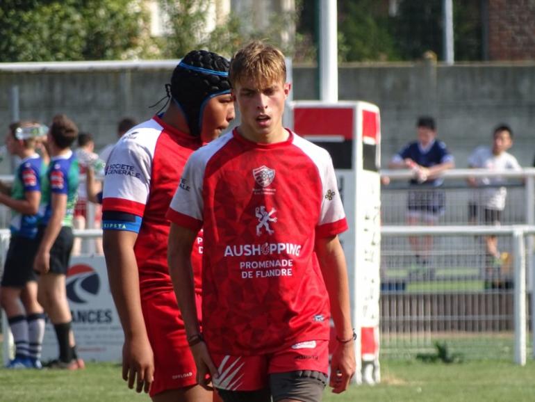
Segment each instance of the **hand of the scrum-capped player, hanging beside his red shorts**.
[[149,339],[125,339],[122,346],[122,378],[135,392],[149,392],[154,380],[154,355]]

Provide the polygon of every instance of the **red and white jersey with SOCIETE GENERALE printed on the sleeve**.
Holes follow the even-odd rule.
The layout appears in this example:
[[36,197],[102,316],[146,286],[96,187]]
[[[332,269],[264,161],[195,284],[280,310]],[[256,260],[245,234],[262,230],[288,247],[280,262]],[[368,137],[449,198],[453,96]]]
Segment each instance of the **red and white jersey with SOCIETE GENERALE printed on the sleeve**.
[[[165,218],[188,157],[201,146],[199,138],[165,124],[158,116],[128,131],[115,145],[106,165],[102,210],[133,214],[104,216],[104,230],[138,232],[134,251],[142,296],[172,290],[167,266],[170,222]],[[109,216],[109,214],[108,214]],[[131,218],[131,216],[130,216]],[[192,250],[195,287],[201,287],[202,238]]]

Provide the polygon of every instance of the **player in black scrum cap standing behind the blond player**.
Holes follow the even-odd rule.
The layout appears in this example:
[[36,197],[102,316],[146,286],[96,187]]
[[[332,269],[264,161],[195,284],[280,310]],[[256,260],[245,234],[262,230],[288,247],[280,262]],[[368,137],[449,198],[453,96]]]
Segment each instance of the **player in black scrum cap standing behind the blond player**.
[[[123,378],[138,392],[150,388],[154,401],[212,401],[197,385],[167,268],[165,211],[190,154],[234,118],[228,69],[217,54],[188,53],[166,85],[167,111],[126,133],[106,165],[104,254],[125,335]],[[195,282],[200,298],[199,276]]]

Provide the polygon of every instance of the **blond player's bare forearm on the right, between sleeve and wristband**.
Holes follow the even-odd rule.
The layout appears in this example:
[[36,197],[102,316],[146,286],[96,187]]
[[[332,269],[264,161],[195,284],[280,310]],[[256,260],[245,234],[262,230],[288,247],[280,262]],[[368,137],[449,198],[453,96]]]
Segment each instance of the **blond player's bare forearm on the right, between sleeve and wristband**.
[[[319,244],[318,244],[319,243]],[[345,256],[338,237],[317,241],[316,253],[331,303],[331,318],[339,339],[352,337],[349,279]]]

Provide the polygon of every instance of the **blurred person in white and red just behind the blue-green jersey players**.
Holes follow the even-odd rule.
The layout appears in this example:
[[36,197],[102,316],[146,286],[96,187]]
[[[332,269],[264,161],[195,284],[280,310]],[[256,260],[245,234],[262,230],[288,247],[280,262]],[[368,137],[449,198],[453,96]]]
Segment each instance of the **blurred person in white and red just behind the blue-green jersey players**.
[[[94,208],[94,223],[88,225],[88,193],[85,186],[85,175],[88,172],[90,166],[92,166],[99,155],[93,152],[94,141],[93,136],[90,133],[81,132],[78,134],[78,149],[76,150],[76,158],[78,159],[80,169],[80,181],[78,186],[78,201],[74,206],[74,229],[85,229],[88,227],[100,227],[101,210],[100,207]],[[74,239],[74,245],[72,246],[72,255],[80,255],[81,241],[79,237]],[[102,254],[102,241],[96,239],[95,241],[96,252]]]

